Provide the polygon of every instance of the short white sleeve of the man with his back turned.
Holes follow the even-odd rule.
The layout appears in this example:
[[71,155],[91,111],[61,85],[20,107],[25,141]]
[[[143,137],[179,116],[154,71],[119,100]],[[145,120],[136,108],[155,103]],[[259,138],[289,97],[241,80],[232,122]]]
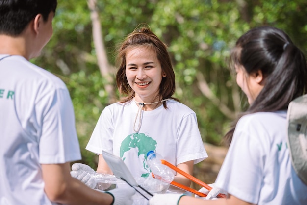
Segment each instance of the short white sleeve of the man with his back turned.
[[44,96],[36,106],[37,113],[41,110],[40,163],[56,164],[81,159],[74,108],[68,90],[58,88]]

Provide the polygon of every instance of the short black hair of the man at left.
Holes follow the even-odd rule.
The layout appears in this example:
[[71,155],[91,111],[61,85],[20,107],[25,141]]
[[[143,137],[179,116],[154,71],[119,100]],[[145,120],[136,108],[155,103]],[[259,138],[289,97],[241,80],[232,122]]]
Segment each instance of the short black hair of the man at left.
[[0,34],[21,34],[37,14],[47,21],[56,6],[57,0],[0,0]]

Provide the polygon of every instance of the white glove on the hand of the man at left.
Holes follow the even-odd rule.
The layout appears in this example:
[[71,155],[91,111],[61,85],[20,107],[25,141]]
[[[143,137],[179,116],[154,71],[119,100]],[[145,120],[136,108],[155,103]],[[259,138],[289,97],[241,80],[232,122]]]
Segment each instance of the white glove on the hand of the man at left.
[[135,190],[132,187],[117,188],[107,191],[105,193],[111,194],[114,201],[111,205],[132,205],[132,196],[135,194]]

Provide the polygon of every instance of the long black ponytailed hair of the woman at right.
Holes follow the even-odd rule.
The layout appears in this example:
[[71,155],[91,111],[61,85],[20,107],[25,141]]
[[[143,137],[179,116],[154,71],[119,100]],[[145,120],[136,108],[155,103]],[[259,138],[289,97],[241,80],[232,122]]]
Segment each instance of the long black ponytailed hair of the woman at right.
[[264,87],[247,111],[239,114],[224,140],[230,145],[238,120],[256,112],[287,110],[289,103],[307,92],[304,54],[281,29],[256,27],[243,34],[230,54],[230,68],[243,66],[246,73],[261,70]]

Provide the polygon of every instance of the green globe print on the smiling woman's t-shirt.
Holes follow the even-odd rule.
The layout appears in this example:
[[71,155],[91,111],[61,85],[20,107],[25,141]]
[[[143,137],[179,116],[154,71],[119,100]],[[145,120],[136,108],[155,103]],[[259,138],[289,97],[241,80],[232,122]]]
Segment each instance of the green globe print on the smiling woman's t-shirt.
[[142,174],[141,177],[146,178],[150,174],[149,166],[146,163],[147,153],[151,150],[156,151],[156,148],[157,142],[153,138],[145,135],[144,133],[134,133],[130,134],[122,141],[120,147],[120,157],[123,159],[123,161],[125,161],[126,157],[124,157],[124,154],[131,152],[132,150],[135,151],[135,149],[137,149],[138,158],[140,158],[141,155],[144,155],[142,157],[144,159],[144,174]]

